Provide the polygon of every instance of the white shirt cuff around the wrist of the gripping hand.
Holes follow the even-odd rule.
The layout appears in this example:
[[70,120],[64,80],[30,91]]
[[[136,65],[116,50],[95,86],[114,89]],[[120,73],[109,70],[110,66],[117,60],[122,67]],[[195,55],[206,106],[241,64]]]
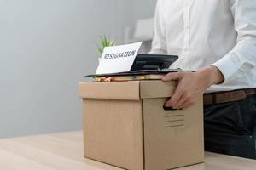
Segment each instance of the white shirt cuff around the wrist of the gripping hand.
[[239,68],[236,66],[236,63],[230,59],[230,55],[227,54],[223,59],[219,59],[217,62],[212,65],[218,67],[218,70],[224,76],[224,82],[230,82],[237,74],[239,74]]

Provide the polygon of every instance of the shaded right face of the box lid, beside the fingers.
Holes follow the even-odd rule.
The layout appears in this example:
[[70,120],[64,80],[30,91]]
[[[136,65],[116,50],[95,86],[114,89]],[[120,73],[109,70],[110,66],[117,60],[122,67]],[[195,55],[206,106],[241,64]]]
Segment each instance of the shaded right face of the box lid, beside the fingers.
[[166,98],[172,96],[177,82],[162,82],[160,80],[141,81],[140,82],[140,98]]

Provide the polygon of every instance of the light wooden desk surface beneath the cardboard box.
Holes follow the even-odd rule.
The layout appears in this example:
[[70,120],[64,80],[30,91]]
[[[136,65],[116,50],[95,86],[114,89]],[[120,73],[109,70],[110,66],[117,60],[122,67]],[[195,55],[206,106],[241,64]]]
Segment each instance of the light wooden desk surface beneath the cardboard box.
[[[121,170],[83,157],[82,132],[52,133],[0,139],[0,169],[4,170]],[[205,163],[177,170],[255,170],[256,161],[205,154]]]

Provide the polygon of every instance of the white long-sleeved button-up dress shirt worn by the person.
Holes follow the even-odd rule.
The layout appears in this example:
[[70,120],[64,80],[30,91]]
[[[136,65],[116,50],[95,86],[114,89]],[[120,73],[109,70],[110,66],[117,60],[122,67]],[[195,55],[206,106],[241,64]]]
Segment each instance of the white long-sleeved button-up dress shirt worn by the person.
[[224,82],[207,91],[256,88],[256,0],[159,0],[150,54],[176,54],[171,68],[215,65]]

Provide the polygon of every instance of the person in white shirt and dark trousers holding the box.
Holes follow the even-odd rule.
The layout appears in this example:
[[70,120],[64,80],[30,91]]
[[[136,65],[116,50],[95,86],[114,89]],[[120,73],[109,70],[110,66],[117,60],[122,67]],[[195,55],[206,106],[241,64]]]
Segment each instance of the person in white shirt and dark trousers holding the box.
[[256,1],[158,0],[150,54],[176,54],[166,107],[204,94],[205,149],[256,159]]

